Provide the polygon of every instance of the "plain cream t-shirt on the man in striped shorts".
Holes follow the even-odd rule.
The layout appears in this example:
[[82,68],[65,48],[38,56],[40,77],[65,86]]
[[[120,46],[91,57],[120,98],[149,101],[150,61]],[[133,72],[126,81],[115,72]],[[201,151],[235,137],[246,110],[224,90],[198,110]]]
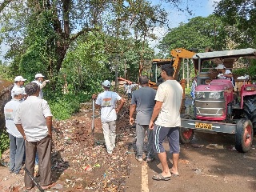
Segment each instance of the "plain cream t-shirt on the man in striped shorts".
[[182,94],[182,86],[176,80],[166,80],[158,86],[155,100],[162,102],[162,108],[155,124],[165,127],[181,126],[179,111]]

